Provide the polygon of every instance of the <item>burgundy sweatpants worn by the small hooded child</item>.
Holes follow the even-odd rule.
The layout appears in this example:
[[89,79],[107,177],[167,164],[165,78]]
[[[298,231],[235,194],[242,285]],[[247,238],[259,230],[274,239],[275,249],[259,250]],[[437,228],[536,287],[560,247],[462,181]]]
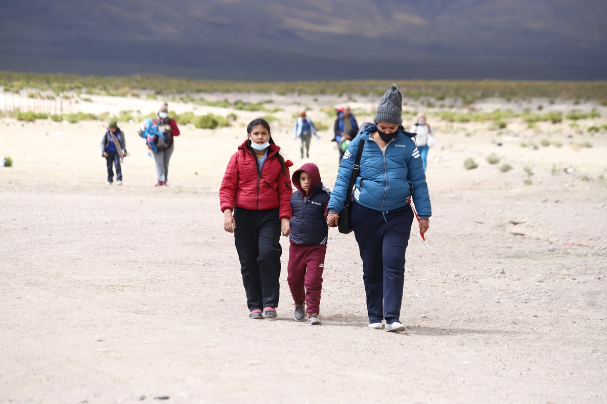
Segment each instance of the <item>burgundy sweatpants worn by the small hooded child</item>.
[[287,283],[296,303],[306,303],[307,313],[319,313],[322,271],[325,269],[326,245],[291,243]]

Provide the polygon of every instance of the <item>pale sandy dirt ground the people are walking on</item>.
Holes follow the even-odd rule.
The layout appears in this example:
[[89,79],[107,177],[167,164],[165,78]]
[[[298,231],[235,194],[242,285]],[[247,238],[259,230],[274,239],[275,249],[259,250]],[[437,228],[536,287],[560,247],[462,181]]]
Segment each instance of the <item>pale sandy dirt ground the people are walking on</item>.
[[[103,124],[0,125],[14,161],[0,168],[0,402],[607,402],[604,132],[561,128],[546,133],[563,147],[529,150],[481,124],[436,125],[434,247],[414,229],[407,329],[386,333],[367,328],[358,246],[334,229],[322,325],[292,319],[287,239],[279,318],[248,319],[217,194],[242,127],[184,127],[167,188],[136,124],[121,127],[131,156],[110,187]],[[275,137],[297,168],[289,131]],[[337,151],[321,137],[310,161],[332,188]],[[582,139],[593,147],[569,146]]]

